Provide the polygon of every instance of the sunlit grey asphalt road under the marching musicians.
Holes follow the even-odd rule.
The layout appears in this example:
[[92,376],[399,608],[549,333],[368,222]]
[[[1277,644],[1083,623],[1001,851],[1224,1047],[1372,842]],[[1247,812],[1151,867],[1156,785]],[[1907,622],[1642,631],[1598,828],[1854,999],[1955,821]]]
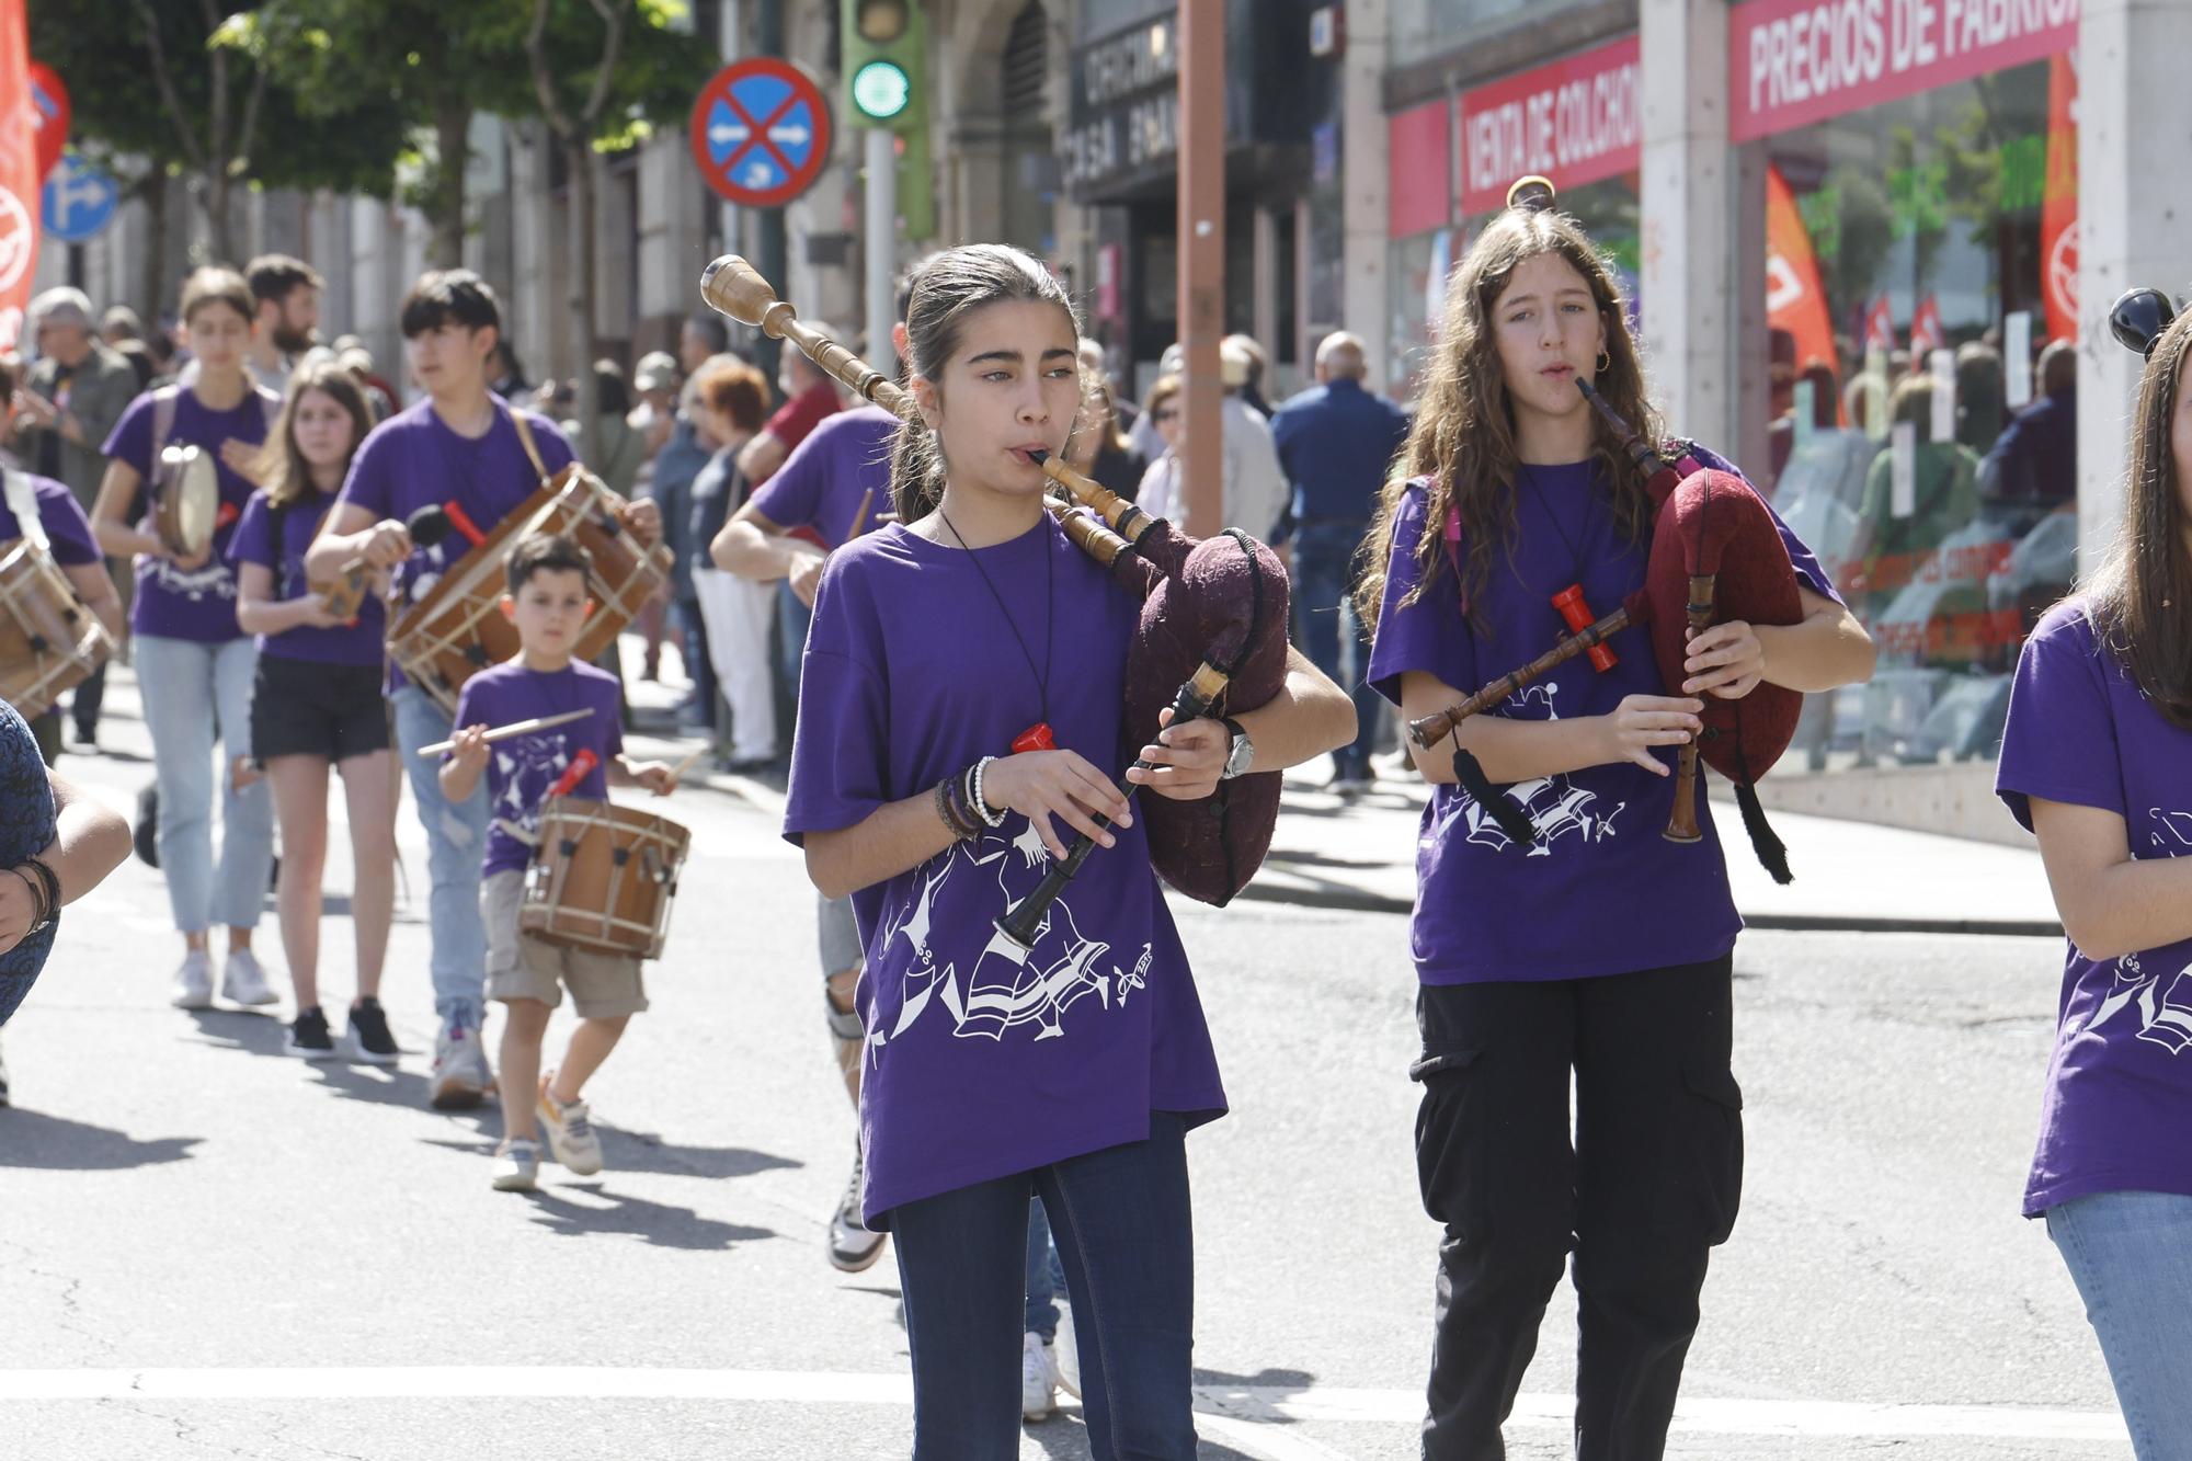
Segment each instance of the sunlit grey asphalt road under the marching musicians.
[[[118,803],[151,774],[66,770]],[[653,1009],[590,1092],[607,1171],[530,1198],[489,1189],[491,1110],[423,1106],[408,807],[392,1073],[289,1060],[265,1013],[169,1009],[180,941],[149,869],[72,910],[4,1035],[0,1457],[903,1457],[894,1268],[822,1259],[853,1121],[811,893],[765,805],[671,809],[695,860]],[[329,1005],[351,987],[342,908]],[[1203,1454],[1414,1457],[1436,1231],[1405,919],[1179,921],[1232,1097],[1190,1143]],[[261,943],[278,972],[272,910]],[[2043,939],[1743,939],[1745,1209],[1670,1454],[2128,1457],[2076,1292],[2017,1215],[2058,959]],[[1563,1288],[1515,1457],[1565,1454],[1572,1307]],[[1021,1454],[1085,1457],[1081,1422],[1030,1426]]]

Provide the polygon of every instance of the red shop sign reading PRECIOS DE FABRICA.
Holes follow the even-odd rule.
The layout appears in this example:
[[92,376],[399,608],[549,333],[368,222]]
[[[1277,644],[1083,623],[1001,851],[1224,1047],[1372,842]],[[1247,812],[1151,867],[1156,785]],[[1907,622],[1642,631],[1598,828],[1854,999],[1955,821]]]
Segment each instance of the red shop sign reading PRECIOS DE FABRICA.
[[1738,143],[2063,55],[2078,0],[1751,0],[1727,18]]

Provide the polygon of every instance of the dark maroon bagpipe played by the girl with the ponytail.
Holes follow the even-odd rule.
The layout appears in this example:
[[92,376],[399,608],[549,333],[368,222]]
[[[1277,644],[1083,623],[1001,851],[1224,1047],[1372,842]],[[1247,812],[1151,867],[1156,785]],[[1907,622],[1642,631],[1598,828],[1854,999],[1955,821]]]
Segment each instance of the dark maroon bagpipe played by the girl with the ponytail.
[[[719,314],[789,340],[831,377],[901,421],[914,417],[910,390],[804,325],[745,259],[726,254],[710,263],[699,292]],[[1155,735],[1166,706],[1173,724],[1184,724],[1249,711],[1278,695],[1287,680],[1289,584],[1271,548],[1236,529],[1188,537],[1057,456],[1041,467],[1052,483],[1046,507],[1059,526],[1142,603],[1127,649],[1122,724],[1129,735]],[[1135,766],[1149,770],[1142,761]],[[1131,799],[1135,785],[1120,781],[1120,792]],[[1151,799],[1142,820],[1157,875],[1197,902],[1228,904],[1271,849],[1278,794],[1278,772],[1249,772],[1219,783],[1208,799]],[[1098,823],[1109,825],[1105,818]],[[1083,834],[1063,860],[1052,862],[1037,891],[1000,921],[1000,932],[1032,948],[1050,904],[1094,845]]]

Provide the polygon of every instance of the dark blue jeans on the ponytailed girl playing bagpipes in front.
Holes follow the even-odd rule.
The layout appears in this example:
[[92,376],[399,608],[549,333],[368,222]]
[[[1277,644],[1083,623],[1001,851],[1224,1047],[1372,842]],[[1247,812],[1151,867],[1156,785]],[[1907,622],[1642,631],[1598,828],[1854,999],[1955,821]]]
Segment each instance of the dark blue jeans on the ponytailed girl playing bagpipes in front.
[[1059,1237],[1096,1461],[1192,1461],[1195,1233],[1186,1121],[1149,1141],[890,1213],[914,1356],[914,1461],[1015,1461],[1028,1198]]

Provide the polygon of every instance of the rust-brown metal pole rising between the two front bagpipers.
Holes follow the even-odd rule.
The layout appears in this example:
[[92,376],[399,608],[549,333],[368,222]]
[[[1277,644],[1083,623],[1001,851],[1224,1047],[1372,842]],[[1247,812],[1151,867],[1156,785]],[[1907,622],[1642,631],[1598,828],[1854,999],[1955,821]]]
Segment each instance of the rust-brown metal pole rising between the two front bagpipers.
[[[1179,0],[1181,485],[1188,533],[1225,526],[1219,338],[1225,333],[1225,0]],[[1267,526],[1267,524],[1247,524]]]

